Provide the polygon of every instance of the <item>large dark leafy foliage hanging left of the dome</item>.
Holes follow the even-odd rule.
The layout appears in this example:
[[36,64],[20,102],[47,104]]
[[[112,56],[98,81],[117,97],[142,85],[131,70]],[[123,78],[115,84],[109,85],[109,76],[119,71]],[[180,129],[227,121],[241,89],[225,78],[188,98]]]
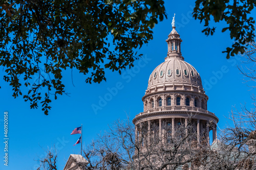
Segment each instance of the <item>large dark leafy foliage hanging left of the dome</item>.
[[[137,50],[166,17],[162,0],[0,1],[0,66],[13,96],[48,114],[66,93],[62,71],[77,69],[100,83],[105,69],[130,68]],[[36,78],[36,80],[34,80]],[[22,88],[27,86],[29,88]],[[30,88],[31,87],[31,88]],[[28,89],[28,90],[26,90]]]

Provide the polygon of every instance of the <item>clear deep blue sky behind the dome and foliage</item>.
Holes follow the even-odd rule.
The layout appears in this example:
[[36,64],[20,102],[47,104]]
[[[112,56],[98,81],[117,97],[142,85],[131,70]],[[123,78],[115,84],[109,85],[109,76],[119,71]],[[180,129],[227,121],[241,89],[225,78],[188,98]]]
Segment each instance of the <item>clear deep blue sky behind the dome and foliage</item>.
[[[214,36],[206,37],[201,31],[203,24],[193,19],[194,1],[166,1],[168,19],[159,22],[153,29],[154,39],[140,49],[143,59],[135,62],[135,67],[126,69],[119,75],[106,71],[106,82],[87,84],[86,77],[73,70],[66,70],[63,82],[69,96],[62,95],[52,101],[52,109],[46,116],[40,110],[31,110],[29,103],[22,98],[12,97],[12,88],[0,79],[0,130],[4,138],[4,112],[9,113],[9,166],[4,166],[4,144],[0,144],[0,169],[36,169],[38,157],[44,157],[48,147],[58,152],[58,169],[63,169],[70,154],[80,153],[80,144],[75,144],[79,135],[70,135],[74,128],[83,124],[83,146],[88,145],[97,134],[108,129],[114,120],[131,119],[143,111],[142,96],[147,88],[147,81],[156,66],[164,62],[167,54],[168,34],[172,31],[172,18],[176,13],[176,30],[181,36],[182,56],[199,72],[206,94],[209,96],[208,110],[219,117],[219,128],[228,124],[232,106],[241,104],[252,106],[248,84],[237,68],[242,64],[242,57],[227,60],[222,51],[232,44],[229,33],[222,33],[224,23],[212,23],[217,26]],[[255,16],[255,10],[254,10]],[[242,64],[244,65],[244,64]],[[3,75],[3,68],[1,68]],[[36,77],[35,77],[36,79]],[[26,87],[24,87],[26,88]],[[115,93],[110,90],[117,88]],[[249,91],[250,90],[250,91]],[[108,101],[102,102],[101,98]],[[101,107],[97,111],[93,106]]]

